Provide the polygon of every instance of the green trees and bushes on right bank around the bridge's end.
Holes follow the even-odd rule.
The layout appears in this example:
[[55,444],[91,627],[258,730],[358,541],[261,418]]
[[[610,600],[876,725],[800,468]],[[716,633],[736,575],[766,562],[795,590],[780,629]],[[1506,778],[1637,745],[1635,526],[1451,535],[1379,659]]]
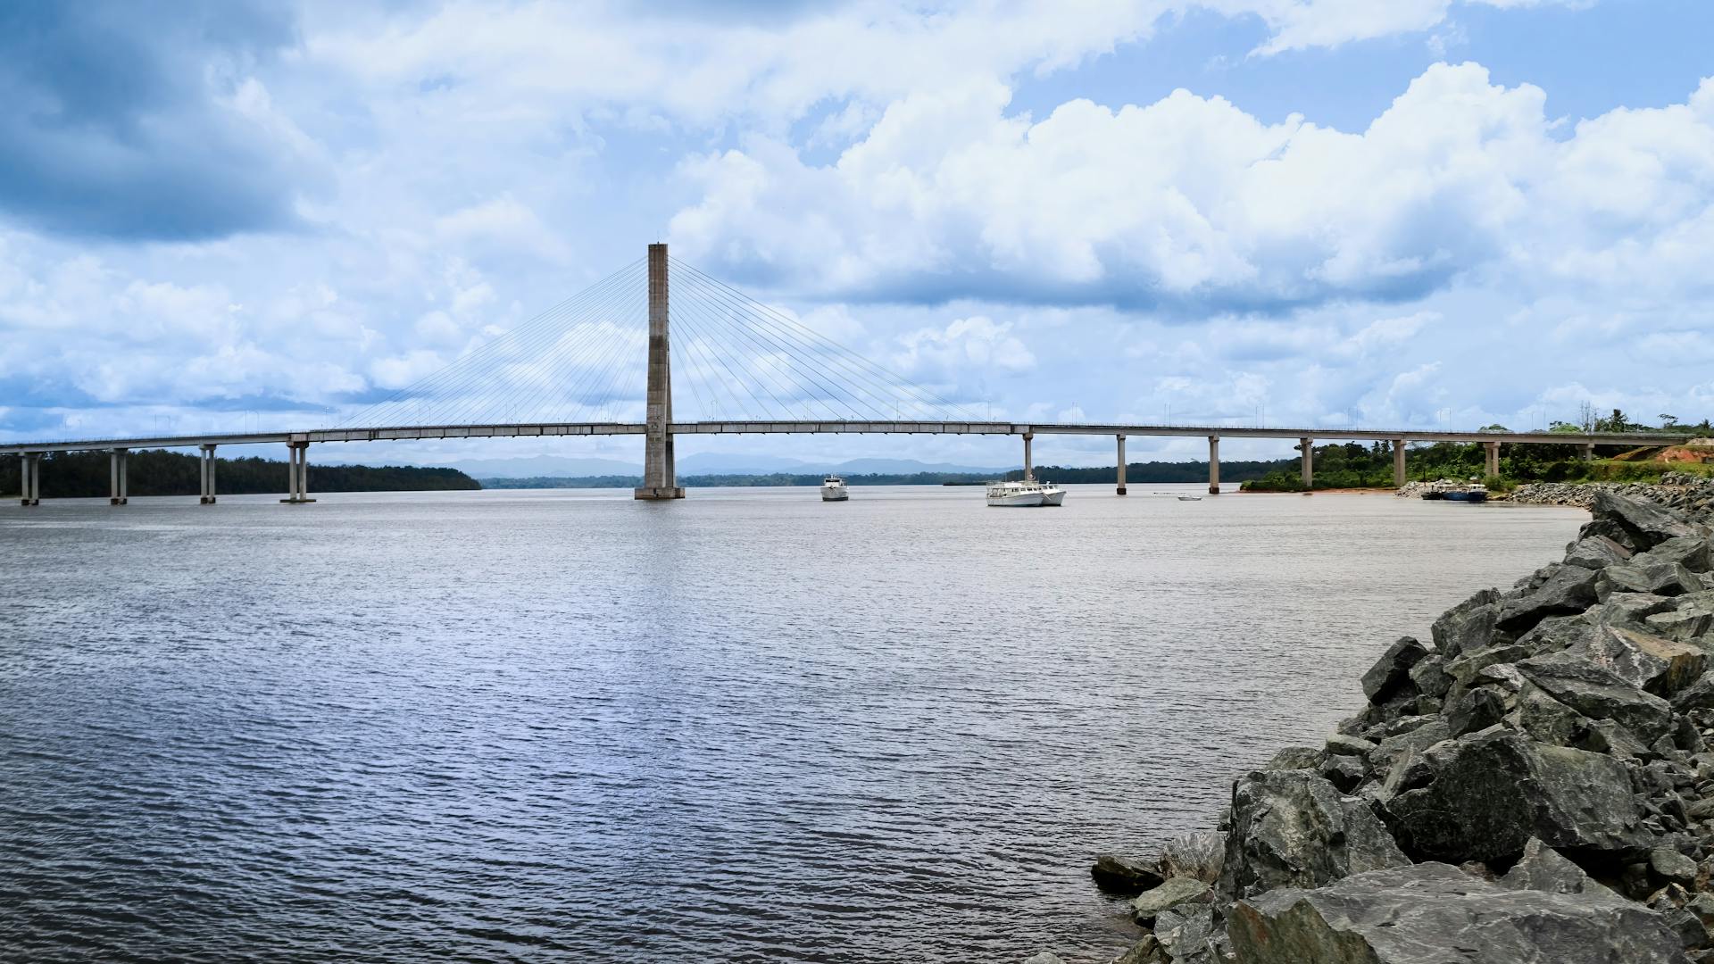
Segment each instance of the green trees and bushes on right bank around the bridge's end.
[[[1644,425],[1623,412],[1596,419],[1585,410],[1582,424],[1553,422],[1549,432],[1680,432],[1685,439],[1714,436],[1714,425],[1704,419],[1699,424],[1680,424],[1673,415],[1661,415],[1661,425]],[[1486,425],[1484,432],[1505,432],[1505,425]],[[1596,458],[1584,460],[1577,446],[1512,444],[1500,446],[1500,475],[1486,477],[1484,484],[1496,492],[1507,492],[1519,482],[1651,482],[1668,472],[1714,475],[1714,463],[1659,461],[1659,449],[1637,446],[1596,446]],[[1481,443],[1412,444],[1407,449],[1407,475],[1414,480],[1471,479],[1486,472]],[[1630,458],[1625,458],[1630,456]],[[1246,482],[1246,492],[1301,492],[1303,480],[1296,458],[1282,460],[1280,467],[1265,477]],[[1390,489],[1393,456],[1388,443],[1342,443],[1315,446],[1316,489]]]

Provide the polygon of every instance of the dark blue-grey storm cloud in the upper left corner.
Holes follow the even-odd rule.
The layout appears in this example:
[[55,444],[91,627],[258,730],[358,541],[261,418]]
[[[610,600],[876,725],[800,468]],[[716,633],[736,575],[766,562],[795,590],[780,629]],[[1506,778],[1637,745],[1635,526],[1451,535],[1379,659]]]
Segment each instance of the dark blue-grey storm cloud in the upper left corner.
[[0,9],[0,209],[55,232],[207,238],[297,221],[319,149],[254,77],[276,3]]

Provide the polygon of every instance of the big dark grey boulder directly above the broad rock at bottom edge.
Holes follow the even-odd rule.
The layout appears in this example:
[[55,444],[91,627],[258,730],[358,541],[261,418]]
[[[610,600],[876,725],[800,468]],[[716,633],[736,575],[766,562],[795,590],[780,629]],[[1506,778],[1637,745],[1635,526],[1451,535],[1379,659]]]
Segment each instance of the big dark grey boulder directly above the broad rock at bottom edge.
[[1448,863],[1508,861],[1531,837],[1591,854],[1652,846],[1621,762],[1503,727],[1409,758],[1387,780],[1385,813],[1407,853]]

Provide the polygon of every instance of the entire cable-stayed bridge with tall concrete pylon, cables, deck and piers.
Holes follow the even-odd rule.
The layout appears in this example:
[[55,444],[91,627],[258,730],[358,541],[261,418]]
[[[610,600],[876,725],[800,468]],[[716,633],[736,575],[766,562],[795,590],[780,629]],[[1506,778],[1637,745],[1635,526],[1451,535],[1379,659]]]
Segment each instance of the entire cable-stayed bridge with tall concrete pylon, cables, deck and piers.
[[[675,396],[675,389],[677,396]],[[1037,434],[1112,436],[1118,492],[1124,494],[1126,436],[1208,439],[1208,491],[1220,482],[1220,437],[1296,439],[1303,480],[1313,477],[1316,439],[1385,441],[1393,477],[1405,479],[1407,443],[1483,443],[1498,473],[1500,443],[1582,446],[1671,444],[1647,432],[1443,432],[1224,425],[1020,424],[975,419],[965,407],[912,384],[799,319],[650,245],[648,256],[531,321],[466,352],[451,365],[346,417],[297,432],[237,432],[0,444],[22,458],[22,504],[41,501],[41,456],[111,453],[111,504],[125,504],[127,453],[197,448],[204,504],[216,501],[219,446],[285,444],[286,497],[309,496],[309,448],[321,443],[643,436],[638,499],[680,499],[675,436],[706,434],[956,434],[1018,436],[1032,472]]]

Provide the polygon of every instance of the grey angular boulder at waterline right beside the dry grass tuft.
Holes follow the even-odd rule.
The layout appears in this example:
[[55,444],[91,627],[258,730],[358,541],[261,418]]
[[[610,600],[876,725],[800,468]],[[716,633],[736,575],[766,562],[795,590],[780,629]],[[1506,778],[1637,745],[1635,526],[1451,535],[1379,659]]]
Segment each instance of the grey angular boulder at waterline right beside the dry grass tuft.
[[1399,849],[1368,803],[1306,770],[1250,774],[1232,787],[1220,895],[1320,887],[1364,870],[1399,866]]

